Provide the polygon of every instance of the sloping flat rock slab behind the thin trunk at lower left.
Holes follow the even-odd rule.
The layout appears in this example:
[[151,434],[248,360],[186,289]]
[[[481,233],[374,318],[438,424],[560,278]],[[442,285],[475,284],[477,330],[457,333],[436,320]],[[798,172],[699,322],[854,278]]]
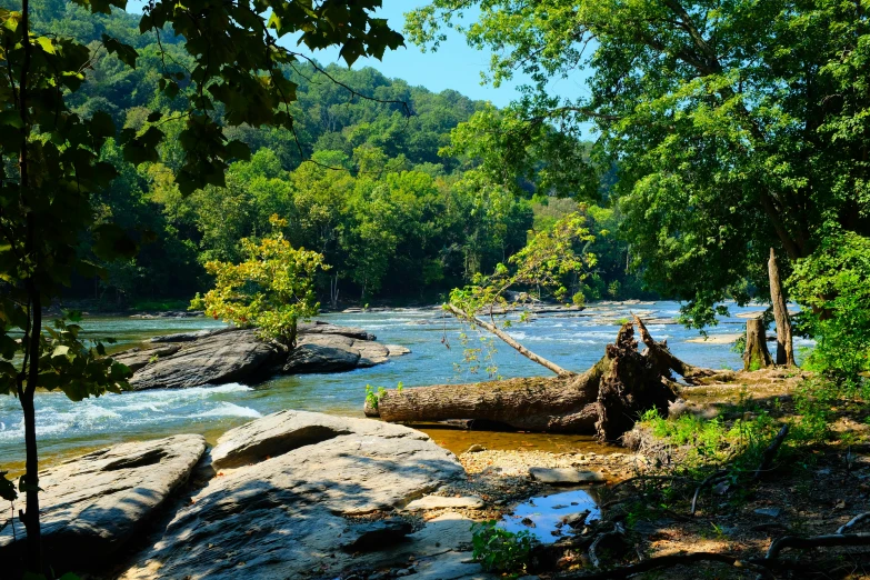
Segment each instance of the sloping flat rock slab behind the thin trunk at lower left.
[[[40,473],[43,550],[54,570],[108,562],[187,482],[204,451],[201,436],[181,434],[120,443]],[[13,542],[11,526],[0,531],[0,561],[20,561],[23,526],[16,532]]]

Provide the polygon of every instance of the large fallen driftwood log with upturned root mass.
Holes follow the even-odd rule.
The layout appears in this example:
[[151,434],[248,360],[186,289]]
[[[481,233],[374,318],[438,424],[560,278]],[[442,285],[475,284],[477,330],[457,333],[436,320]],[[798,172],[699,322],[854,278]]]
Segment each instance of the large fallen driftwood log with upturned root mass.
[[594,432],[602,441],[614,441],[643,411],[667,413],[677,398],[671,370],[692,381],[717,376],[680,361],[636,321],[647,349],[638,350],[628,322],[582,374],[388,390],[377,408],[367,401],[366,414],[392,422],[486,420],[528,431]]

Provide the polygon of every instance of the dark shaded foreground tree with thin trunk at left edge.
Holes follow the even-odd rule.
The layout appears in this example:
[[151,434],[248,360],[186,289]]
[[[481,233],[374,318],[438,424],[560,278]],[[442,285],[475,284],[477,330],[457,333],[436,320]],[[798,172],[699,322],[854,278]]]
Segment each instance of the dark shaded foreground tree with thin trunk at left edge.
[[[126,0],[77,3],[109,13],[122,10]],[[296,86],[284,67],[300,56],[278,40],[290,34],[309,49],[338,46],[349,64],[363,56],[381,58],[402,37],[373,17],[379,6],[379,0],[151,1],[140,32],[160,47],[167,37],[186,40],[190,66],[163,58],[161,48],[159,80],[162,93],[184,98],[186,107],[166,119],[152,111],[141,128],[121,131],[110,114],[83,117],[67,100],[82,87],[97,50],[132,68],[137,50],[108,33],[98,46],[84,46],[62,33],[34,32],[31,0],[21,0],[20,10],[0,9],[0,390],[14,393],[24,414],[27,461],[20,488],[27,493],[22,519],[29,570],[49,570],[40,542],[37,388],[59,388],[78,400],[118,390],[127,376],[122,366],[99,361],[100,346],[89,349],[78,340],[78,326],[61,321],[58,329],[43,329],[42,322],[43,307],[73,272],[93,271],[76,251],[82,232],[94,229],[93,250],[103,258],[137,250],[137,240],[117,224],[94,228],[92,196],[116,177],[97,152],[107,138],[117,137],[127,161],[158,161],[161,127],[180,122],[180,191],[222,187],[229,162],[249,157],[246,144],[226,138],[224,126],[293,128]],[[20,340],[13,338],[17,332],[23,334]]]

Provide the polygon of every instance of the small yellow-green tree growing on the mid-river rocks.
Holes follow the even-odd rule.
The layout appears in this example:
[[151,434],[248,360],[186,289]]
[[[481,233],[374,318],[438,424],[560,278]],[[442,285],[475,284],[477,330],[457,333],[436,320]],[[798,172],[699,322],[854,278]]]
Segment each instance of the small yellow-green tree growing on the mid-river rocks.
[[214,289],[197,294],[191,308],[238,326],[252,326],[263,338],[293,344],[298,320],[317,314],[320,303],[313,279],[329,269],[323,256],[290,246],[281,233],[287,226],[277,214],[269,218],[272,234],[257,242],[241,240],[247,260],[239,264],[211,261],[206,270],[216,278]]

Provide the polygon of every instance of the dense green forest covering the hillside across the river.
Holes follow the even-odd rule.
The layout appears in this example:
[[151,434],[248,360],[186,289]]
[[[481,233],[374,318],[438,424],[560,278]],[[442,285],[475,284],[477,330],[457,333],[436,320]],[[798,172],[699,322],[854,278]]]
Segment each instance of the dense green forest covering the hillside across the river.
[[[147,243],[134,258],[101,263],[108,277],[74,280],[67,299],[106,308],[188,299],[210,283],[204,263],[238,261],[240,240],[262,234],[278,213],[288,220],[284,234],[294,247],[323,253],[331,266],[318,280],[324,303],[432,301],[517,252],[529,230],[578,209],[528,181],[497,184],[476,156],[439,153],[451,144],[451,131],[487,103],[410,87],[370,68],[313,61],[287,70],[298,83],[293,129],[228,129],[252,158],[231,164],[226,188],[182,196],[177,143],[187,101],[160,90],[164,71],[192,67],[178,39],[160,37],[162,56],[154,36],[139,34],[133,14],[92,16],[59,1],[42,3],[34,14],[36,30],[73,37],[96,54],[87,83],[69,99],[74,112],[89,118],[103,111],[117,127],[137,131],[158,124],[168,136],[159,161],[139,167],[124,161],[113,139],[102,147],[101,160],[120,177],[99,192],[99,219],[138,231]],[[139,51],[136,69],[101,50],[103,33]],[[151,111],[161,111],[162,120],[149,123]],[[627,272],[628,247],[616,236],[619,212],[583,209],[597,234],[586,251],[598,266],[571,296],[644,296]],[[81,251],[90,246],[83,240]]]

